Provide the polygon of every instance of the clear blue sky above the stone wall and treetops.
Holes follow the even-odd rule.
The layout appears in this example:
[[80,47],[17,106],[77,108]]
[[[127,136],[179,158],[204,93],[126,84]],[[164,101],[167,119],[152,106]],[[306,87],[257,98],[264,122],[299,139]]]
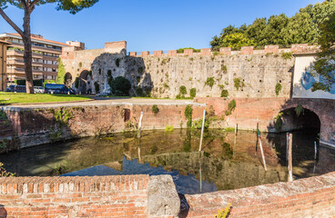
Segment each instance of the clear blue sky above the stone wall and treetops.
[[[285,13],[318,0],[100,0],[76,15],[56,11],[56,5],[36,7],[32,33],[46,39],[80,41],[87,49],[105,42],[127,41],[127,51],[207,48],[214,35],[228,25],[251,24],[257,17]],[[8,7],[5,13],[22,26],[23,12]],[[14,33],[0,16],[0,33]]]

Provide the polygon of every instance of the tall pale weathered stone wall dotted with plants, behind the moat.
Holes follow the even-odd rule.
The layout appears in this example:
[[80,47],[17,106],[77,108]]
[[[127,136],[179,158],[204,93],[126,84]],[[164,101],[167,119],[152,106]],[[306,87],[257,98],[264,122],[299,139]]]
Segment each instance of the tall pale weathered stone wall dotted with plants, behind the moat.
[[109,79],[121,75],[132,84],[130,94],[149,92],[159,98],[176,98],[182,85],[187,89],[185,97],[189,97],[192,88],[199,97],[219,97],[223,89],[234,97],[275,97],[276,84],[281,84],[278,95],[289,97],[293,65],[294,58],[283,59],[274,54],[178,57],[101,54],[90,67],[92,76],[87,84],[94,94],[95,83],[100,85],[100,92],[109,93]]

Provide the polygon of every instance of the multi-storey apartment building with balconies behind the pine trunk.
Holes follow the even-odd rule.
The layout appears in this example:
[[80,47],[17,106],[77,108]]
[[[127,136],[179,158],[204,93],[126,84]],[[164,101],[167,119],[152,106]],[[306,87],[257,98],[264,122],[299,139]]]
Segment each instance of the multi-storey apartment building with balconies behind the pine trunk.
[[[33,79],[56,80],[58,58],[62,48],[70,45],[44,39],[42,35],[31,35],[33,51]],[[24,43],[18,34],[2,34],[0,40],[7,46],[6,80],[13,84],[15,80],[25,79]]]

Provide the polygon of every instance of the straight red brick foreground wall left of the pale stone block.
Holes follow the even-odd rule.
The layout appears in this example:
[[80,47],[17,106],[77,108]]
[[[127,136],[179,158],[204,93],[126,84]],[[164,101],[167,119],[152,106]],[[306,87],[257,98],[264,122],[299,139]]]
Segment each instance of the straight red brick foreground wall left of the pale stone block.
[[0,217],[147,217],[148,175],[0,178]]

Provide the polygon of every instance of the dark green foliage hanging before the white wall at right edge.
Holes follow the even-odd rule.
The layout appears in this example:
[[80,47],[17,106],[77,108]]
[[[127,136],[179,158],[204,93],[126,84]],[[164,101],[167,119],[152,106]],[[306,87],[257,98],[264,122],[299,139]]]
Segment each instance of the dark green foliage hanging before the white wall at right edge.
[[[315,74],[320,75],[321,81],[313,84],[312,91],[330,91],[335,84],[335,13],[320,25],[318,40],[321,52],[314,64]],[[315,75],[314,74],[314,75]]]

